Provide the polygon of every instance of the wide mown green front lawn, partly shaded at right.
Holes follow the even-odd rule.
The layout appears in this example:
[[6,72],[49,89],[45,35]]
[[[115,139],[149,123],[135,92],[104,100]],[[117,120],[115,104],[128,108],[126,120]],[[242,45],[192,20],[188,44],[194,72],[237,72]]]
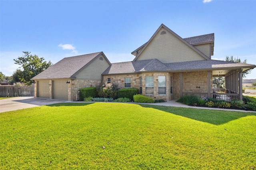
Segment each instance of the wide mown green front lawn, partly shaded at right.
[[250,169],[256,167],[255,131],[256,113],[40,106],[0,113],[0,169]]

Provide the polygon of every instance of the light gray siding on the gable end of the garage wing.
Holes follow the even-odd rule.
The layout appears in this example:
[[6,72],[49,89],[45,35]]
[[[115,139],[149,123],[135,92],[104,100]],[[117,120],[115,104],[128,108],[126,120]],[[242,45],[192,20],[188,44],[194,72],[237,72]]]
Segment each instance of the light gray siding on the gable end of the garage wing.
[[[103,60],[100,60],[102,57]],[[110,64],[103,55],[96,57],[92,63],[89,63],[83,70],[76,74],[77,80],[101,80],[101,74]]]

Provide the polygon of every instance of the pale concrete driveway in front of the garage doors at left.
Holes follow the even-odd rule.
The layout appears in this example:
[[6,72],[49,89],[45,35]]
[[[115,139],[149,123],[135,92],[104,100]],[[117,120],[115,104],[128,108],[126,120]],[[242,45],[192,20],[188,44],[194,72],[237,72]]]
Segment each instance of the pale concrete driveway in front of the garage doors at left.
[[48,104],[56,103],[66,103],[66,100],[57,99],[45,99],[45,98],[34,98],[34,96],[29,97],[17,97],[17,98],[7,98],[0,100],[0,113],[6,111],[13,111],[19,109],[26,109],[30,107],[37,107]]

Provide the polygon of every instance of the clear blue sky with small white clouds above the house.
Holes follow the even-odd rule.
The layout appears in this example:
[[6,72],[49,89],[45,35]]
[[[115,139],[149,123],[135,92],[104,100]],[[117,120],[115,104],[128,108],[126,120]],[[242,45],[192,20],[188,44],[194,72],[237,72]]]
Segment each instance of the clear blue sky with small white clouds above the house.
[[[255,0],[0,0],[0,71],[11,76],[22,51],[57,63],[103,51],[132,61],[163,23],[182,38],[215,33],[214,56],[256,64]],[[246,78],[256,78],[256,68]]]

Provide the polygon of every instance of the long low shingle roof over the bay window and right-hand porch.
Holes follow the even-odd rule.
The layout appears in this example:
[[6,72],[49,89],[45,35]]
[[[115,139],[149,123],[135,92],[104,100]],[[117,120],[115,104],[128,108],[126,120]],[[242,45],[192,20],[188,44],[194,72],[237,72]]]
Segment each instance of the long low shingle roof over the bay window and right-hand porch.
[[143,71],[190,71],[190,70],[215,70],[222,68],[244,67],[253,68],[254,64],[234,63],[231,61],[201,60],[179,63],[162,63],[157,59],[113,63],[103,74],[124,74]]

